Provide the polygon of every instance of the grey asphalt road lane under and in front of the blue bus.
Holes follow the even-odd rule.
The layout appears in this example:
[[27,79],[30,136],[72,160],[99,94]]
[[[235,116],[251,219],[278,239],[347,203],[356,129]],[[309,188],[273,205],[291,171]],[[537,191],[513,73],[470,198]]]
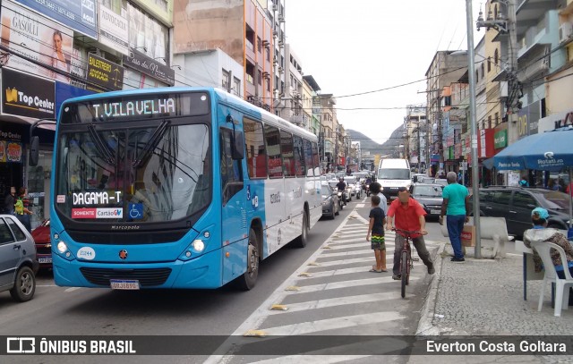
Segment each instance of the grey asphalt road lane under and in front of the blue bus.
[[[50,272],[40,272],[32,301],[15,303],[8,292],[0,293],[0,332],[10,336],[233,334],[287,277],[321,247],[357,203],[360,201],[353,199],[335,220],[321,219],[312,228],[304,249],[288,247],[265,259],[261,263],[258,283],[250,292],[237,291],[230,286],[213,291],[138,292],[65,288],[54,284]],[[367,217],[369,208],[367,203],[357,209],[357,213]],[[430,232],[427,239],[443,241],[437,221],[429,222],[427,228]],[[415,290],[418,294],[414,306],[421,309],[423,286]],[[407,326],[415,329],[417,320],[411,321]],[[153,356],[9,356],[2,362],[99,363],[111,360],[199,363],[206,359],[207,356],[169,356],[163,359]]]

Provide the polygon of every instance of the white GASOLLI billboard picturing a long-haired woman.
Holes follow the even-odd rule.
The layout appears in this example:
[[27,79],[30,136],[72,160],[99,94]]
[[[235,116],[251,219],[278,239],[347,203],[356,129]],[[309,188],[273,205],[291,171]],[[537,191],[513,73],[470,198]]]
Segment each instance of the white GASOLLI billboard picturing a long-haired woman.
[[[13,51],[4,64],[16,70],[69,83],[67,73],[73,53],[73,30],[56,21],[13,4],[2,3],[2,45]],[[25,55],[62,73],[31,63],[17,55]]]

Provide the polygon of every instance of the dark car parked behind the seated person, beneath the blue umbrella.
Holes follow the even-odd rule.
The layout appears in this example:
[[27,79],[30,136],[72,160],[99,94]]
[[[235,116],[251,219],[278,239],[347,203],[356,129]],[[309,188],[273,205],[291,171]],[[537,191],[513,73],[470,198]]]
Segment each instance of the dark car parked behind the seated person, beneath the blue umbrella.
[[[509,235],[517,239],[522,239],[526,229],[531,228],[531,210],[535,207],[543,207],[549,212],[548,227],[567,230],[569,226],[567,193],[512,186],[490,186],[478,193],[480,216],[505,217]],[[470,208],[473,210],[473,205]]]

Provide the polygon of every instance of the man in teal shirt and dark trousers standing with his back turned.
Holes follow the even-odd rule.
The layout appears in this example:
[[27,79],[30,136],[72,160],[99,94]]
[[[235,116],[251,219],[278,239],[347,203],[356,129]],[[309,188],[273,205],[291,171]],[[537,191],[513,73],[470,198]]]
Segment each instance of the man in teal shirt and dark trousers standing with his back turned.
[[440,225],[444,224],[444,215],[448,216],[446,226],[448,226],[449,241],[454,249],[452,262],[463,262],[461,234],[464,230],[464,223],[469,221],[469,194],[466,186],[462,186],[456,180],[458,176],[455,172],[448,172],[446,175],[448,185],[441,192],[443,202],[441,203]]

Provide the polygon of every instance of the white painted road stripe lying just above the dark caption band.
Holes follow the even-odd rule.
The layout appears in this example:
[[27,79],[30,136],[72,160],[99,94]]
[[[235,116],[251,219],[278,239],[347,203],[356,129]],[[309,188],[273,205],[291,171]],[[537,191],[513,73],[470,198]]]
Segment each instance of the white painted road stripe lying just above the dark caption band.
[[398,312],[371,312],[362,315],[326,318],[317,321],[301,322],[293,325],[261,328],[268,335],[311,334],[360,325],[370,325],[404,318]]

